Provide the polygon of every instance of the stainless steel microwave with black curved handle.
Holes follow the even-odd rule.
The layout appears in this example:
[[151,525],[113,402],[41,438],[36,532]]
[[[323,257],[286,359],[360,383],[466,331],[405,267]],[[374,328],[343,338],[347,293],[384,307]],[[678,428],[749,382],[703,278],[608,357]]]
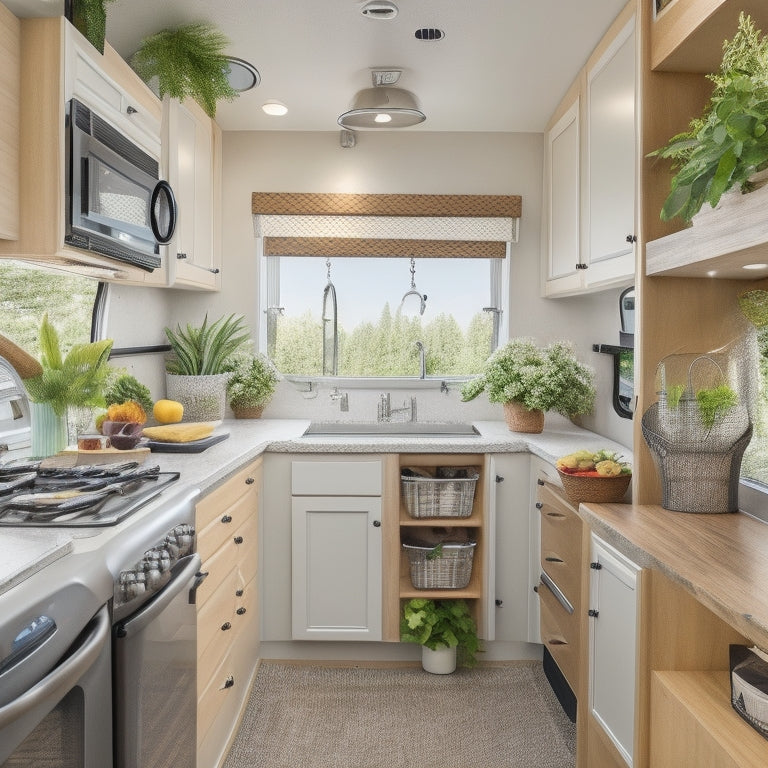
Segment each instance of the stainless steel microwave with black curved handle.
[[64,242],[148,272],[159,267],[177,211],[158,161],[76,99],[66,136]]

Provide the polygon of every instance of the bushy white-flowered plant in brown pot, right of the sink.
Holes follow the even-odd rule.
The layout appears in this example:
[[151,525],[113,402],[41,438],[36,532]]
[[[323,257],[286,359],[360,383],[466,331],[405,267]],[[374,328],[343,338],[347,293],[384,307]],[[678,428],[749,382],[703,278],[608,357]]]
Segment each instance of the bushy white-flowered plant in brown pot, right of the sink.
[[468,381],[461,399],[485,391],[492,403],[504,404],[513,432],[541,432],[544,413],[555,410],[573,417],[589,413],[595,402],[594,373],[579,362],[573,347],[555,341],[540,347],[533,339],[512,339],[486,361],[481,376]]

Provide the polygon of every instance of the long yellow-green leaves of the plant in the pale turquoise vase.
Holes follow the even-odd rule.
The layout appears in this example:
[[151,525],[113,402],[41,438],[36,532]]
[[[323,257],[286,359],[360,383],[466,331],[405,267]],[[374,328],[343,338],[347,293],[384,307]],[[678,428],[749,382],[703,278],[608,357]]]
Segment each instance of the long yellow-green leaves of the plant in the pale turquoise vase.
[[40,376],[25,379],[24,386],[35,403],[50,403],[61,416],[69,406],[104,405],[104,388],[110,374],[107,360],[112,340],[76,344],[63,354],[59,334],[43,317],[40,325]]

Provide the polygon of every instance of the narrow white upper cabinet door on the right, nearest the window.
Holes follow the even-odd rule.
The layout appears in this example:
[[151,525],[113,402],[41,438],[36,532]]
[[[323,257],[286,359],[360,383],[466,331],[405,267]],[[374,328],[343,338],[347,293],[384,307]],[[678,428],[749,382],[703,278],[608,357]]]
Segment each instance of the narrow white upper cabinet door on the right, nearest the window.
[[545,295],[579,288],[579,99],[547,133],[545,194],[548,255]]

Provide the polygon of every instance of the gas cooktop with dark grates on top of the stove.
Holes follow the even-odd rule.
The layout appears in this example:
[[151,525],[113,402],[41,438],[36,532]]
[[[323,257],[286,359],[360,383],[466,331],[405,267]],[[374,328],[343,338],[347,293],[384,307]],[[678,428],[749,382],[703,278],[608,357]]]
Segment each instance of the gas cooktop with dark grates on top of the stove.
[[68,468],[46,468],[40,461],[0,464],[0,525],[116,525],[178,479],[178,472],[135,461]]

